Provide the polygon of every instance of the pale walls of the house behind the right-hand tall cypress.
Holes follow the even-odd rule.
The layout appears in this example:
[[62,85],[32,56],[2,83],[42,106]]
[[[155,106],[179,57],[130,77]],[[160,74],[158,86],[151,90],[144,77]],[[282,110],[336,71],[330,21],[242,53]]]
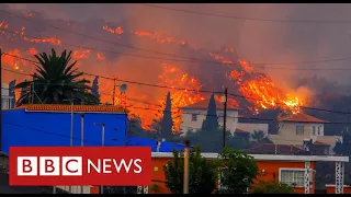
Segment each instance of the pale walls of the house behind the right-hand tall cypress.
[[[182,109],[182,123],[180,124],[180,128],[182,132],[186,132],[189,129],[201,129],[203,120],[206,118],[207,109]],[[197,120],[192,121],[192,114],[197,114]],[[223,126],[223,117],[224,111],[217,109],[218,124]],[[227,130],[231,132],[235,131],[238,123],[238,111],[227,111]]]

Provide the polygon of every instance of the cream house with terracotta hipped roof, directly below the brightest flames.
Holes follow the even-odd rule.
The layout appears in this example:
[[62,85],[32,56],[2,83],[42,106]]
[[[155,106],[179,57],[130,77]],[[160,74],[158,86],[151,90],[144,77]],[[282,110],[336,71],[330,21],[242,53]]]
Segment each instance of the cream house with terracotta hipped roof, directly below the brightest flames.
[[318,152],[332,154],[337,140],[342,142],[341,136],[325,136],[322,119],[304,113],[293,114],[278,118],[278,135],[269,135],[269,139],[275,144],[294,144],[303,148],[306,141],[315,144]]

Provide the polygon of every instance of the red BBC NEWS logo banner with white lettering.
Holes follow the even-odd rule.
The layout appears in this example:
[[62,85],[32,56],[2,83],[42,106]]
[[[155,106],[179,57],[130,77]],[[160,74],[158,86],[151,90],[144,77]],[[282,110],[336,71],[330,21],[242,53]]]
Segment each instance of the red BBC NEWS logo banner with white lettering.
[[10,185],[151,184],[148,147],[11,147]]

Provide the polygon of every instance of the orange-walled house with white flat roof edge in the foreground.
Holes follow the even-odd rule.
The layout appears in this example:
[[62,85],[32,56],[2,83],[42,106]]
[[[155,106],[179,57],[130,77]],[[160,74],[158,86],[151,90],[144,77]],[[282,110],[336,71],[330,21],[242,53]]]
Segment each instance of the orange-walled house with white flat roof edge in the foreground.
[[[172,160],[173,155],[170,152],[152,152],[151,160],[151,178],[152,184],[158,185],[158,190],[152,192],[149,186],[139,186],[139,193],[157,193],[170,194],[170,190],[165,185],[163,165]],[[217,153],[202,153],[207,160],[217,159]],[[344,166],[344,162],[349,162],[348,157],[325,157],[325,155],[276,155],[276,154],[249,154],[254,158],[259,166],[259,181],[271,181],[276,178],[282,183],[294,185],[294,190],[298,194],[315,193],[315,173],[316,162],[336,162],[336,166]],[[342,170],[338,170],[337,177],[343,175]],[[337,183],[343,182],[336,179]],[[220,186],[220,185],[219,185]],[[144,189],[143,189],[144,187]],[[339,188],[339,187],[338,187]],[[342,187],[341,187],[342,188]]]

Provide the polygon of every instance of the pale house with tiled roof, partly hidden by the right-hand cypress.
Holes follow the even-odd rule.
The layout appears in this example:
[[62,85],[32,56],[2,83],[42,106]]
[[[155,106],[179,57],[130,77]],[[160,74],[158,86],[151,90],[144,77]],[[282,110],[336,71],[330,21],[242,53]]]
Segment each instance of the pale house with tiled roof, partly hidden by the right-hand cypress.
[[[201,102],[194,103],[192,105],[188,105],[181,107],[182,109],[182,123],[180,124],[180,129],[182,132],[186,134],[186,131],[196,129],[201,129],[203,120],[206,118],[207,107],[210,100],[203,100]],[[218,116],[218,124],[223,126],[224,121],[224,104],[216,100],[216,109]],[[233,105],[227,106],[227,130],[231,132],[237,128],[239,108]]]

